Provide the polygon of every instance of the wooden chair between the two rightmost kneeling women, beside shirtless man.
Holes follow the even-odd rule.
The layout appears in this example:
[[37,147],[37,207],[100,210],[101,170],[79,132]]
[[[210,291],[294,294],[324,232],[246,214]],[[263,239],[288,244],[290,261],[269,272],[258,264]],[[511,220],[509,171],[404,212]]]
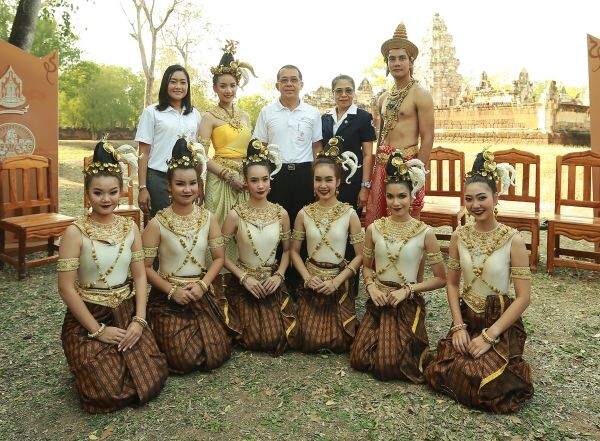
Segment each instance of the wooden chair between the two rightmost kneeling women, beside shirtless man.
[[[444,161],[448,162],[448,175],[444,173]],[[421,210],[421,220],[432,227],[450,226],[452,230],[466,223],[465,208],[465,154],[458,150],[436,147],[431,150],[427,169],[430,174],[425,181],[425,198],[438,196],[445,198],[444,202],[428,202]],[[458,175],[457,175],[458,171]],[[435,176],[435,185],[432,183]],[[448,189],[444,189],[444,183]],[[446,202],[447,201],[447,202]],[[450,240],[449,234],[436,233],[438,240]],[[447,251],[448,247],[442,247]]]

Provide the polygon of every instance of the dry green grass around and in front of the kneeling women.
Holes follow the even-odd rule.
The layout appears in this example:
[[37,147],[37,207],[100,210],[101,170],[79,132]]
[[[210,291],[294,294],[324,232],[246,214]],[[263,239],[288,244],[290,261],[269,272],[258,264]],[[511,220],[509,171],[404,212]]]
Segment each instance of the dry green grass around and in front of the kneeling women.
[[[89,149],[61,146],[60,203],[81,212]],[[67,185],[68,184],[68,185]],[[545,246],[545,236],[542,236]],[[17,282],[0,273],[2,440],[579,440],[600,439],[600,274],[558,268],[534,276],[524,316],[535,395],[514,415],[468,409],[427,386],[382,383],[347,355],[234,351],[210,373],[171,376],[142,408],[89,415],[60,344],[65,306],[54,266]],[[432,346],[450,323],[445,294],[428,294]],[[364,297],[359,300],[362,313]]]

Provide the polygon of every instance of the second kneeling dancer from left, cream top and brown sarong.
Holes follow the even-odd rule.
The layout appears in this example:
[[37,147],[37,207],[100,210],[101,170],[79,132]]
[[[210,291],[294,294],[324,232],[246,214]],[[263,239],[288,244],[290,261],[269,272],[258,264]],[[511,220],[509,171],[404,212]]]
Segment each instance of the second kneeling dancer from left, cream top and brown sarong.
[[[227,300],[212,286],[224,251],[215,216],[196,205],[204,170],[202,146],[179,139],[168,162],[172,203],[156,213],[143,236],[146,275],[152,284],[148,322],[169,369],[180,374],[221,366],[229,359],[237,334]],[[155,271],[152,263],[157,255]]]

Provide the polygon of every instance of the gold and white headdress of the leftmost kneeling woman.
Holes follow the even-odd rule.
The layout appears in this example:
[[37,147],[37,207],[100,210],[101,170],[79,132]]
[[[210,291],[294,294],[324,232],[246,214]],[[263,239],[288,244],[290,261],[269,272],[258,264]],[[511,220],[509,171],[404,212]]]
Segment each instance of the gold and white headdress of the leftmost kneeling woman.
[[108,142],[107,137],[108,135],[104,135],[94,147],[92,162],[83,169],[83,174],[91,176],[101,172],[116,173],[123,177],[126,185],[129,185],[132,177],[127,174],[127,164],[137,172],[137,160],[141,155],[138,154],[135,147],[129,144],[123,144],[115,149]]

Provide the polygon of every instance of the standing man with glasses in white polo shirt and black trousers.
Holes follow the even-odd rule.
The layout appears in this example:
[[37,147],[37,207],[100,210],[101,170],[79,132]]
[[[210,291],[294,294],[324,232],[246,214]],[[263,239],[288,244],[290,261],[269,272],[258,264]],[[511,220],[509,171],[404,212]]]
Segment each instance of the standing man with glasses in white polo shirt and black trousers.
[[286,209],[291,225],[298,212],[313,202],[312,162],[321,144],[321,115],[300,100],[302,73],[293,65],[277,72],[279,98],[263,107],[258,116],[254,137],[265,144],[281,148],[283,167],[273,179],[269,200]]

